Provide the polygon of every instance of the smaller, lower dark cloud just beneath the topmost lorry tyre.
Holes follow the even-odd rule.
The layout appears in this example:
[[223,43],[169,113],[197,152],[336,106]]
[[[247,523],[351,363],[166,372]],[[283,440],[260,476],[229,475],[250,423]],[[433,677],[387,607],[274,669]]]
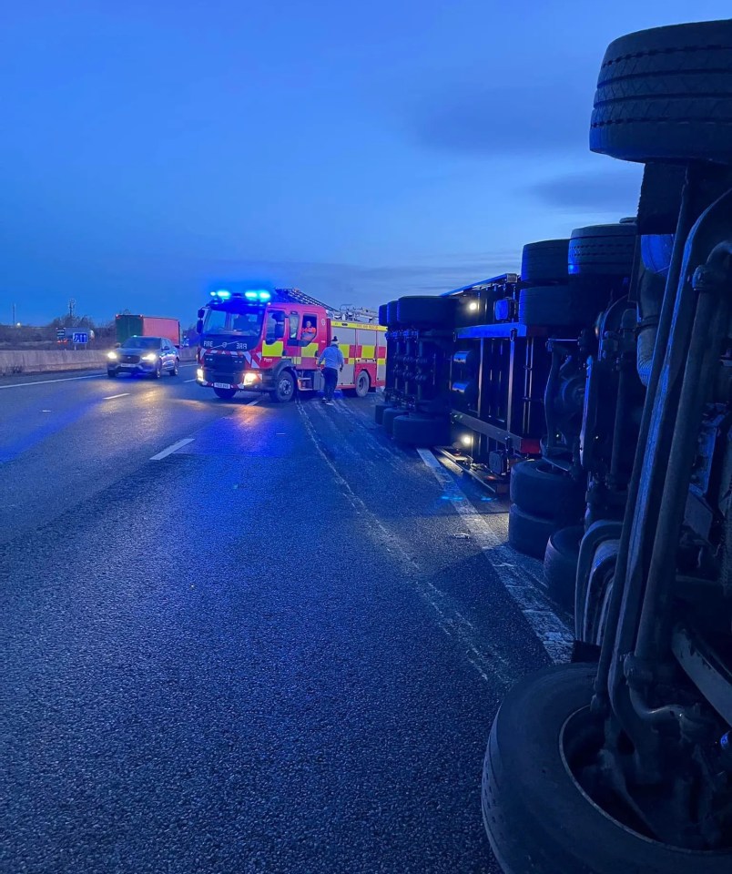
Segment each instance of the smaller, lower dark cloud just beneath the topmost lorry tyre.
[[584,171],[535,182],[528,187],[544,206],[578,213],[616,212],[635,216],[640,195],[641,169],[623,166],[624,172]]

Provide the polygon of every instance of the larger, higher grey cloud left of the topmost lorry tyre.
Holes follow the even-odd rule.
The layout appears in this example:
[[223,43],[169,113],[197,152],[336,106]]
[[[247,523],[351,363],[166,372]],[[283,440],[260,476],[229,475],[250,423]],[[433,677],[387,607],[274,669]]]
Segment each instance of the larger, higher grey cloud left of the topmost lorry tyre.
[[436,86],[406,107],[409,134],[422,147],[469,156],[586,149],[593,83],[540,73],[537,65],[537,76],[523,83]]

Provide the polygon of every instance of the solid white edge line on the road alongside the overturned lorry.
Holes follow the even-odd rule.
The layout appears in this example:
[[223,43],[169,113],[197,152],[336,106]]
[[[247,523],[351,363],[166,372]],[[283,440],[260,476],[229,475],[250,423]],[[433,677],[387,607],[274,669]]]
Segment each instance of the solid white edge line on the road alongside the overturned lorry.
[[498,575],[498,579],[524,614],[534,635],[541,641],[554,662],[568,662],[572,655],[574,635],[564,621],[554,613],[551,601],[541,591],[541,581],[517,566],[513,549],[486,523],[466,493],[443,468],[429,449],[417,450],[422,462],[430,468],[442,485],[443,493],[460,514],[473,539]]

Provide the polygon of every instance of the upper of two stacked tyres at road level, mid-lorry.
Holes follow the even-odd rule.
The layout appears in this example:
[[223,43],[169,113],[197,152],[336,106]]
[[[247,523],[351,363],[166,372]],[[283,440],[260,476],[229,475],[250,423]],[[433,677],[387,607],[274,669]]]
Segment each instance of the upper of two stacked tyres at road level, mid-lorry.
[[514,464],[509,490],[511,501],[526,513],[574,522],[583,512],[585,494],[582,485],[572,477],[558,473],[544,459]]

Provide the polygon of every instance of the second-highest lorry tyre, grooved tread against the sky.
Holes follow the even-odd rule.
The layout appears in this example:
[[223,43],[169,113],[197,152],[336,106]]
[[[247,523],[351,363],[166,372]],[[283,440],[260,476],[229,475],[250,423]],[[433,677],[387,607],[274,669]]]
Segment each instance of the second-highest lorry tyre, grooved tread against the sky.
[[635,222],[590,225],[572,231],[569,275],[630,276],[635,258]]

